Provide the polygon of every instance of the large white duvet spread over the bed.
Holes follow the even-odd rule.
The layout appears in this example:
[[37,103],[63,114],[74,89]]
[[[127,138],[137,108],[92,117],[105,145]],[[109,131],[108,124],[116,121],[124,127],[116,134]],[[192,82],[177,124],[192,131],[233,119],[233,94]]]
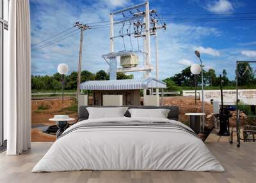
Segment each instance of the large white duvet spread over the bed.
[[[188,170],[224,171],[204,142],[186,131],[168,127],[95,127],[93,122],[170,122],[163,118],[106,118],[84,120],[56,140],[32,172],[72,170]],[[71,132],[70,132],[71,131]]]

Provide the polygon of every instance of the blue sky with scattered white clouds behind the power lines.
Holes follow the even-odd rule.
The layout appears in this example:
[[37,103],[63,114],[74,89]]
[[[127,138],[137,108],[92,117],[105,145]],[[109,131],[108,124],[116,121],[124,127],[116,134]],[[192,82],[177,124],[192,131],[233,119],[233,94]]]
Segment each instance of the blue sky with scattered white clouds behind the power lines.
[[[109,20],[109,12],[119,10],[143,1],[132,0],[30,0],[31,9],[31,44],[38,44],[45,38],[70,28],[74,22],[84,24]],[[228,77],[234,79],[236,60],[256,60],[256,20],[243,21],[186,21],[177,22],[170,19],[209,19],[232,17],[255,17],[255,14],[234,14],[256,12],[256,1],[239,0],[158,0],[149,1],[150,9],[157,10],[167,24],[167,30],[158,32],[159,36],[159,77],[177,74],[192,63],[198,63],[195,49],[201,52],[205,69],[214,68],[216,74],[227,70]],[[182,16],[177,16],[182,14]],[[184,15],[186,14],[186,15]],[[188,14],[193,14],[188,16]],[[196,15],[194,15],[196,14]],[[197,14],[207,14],[198,16]],[[209,15],[211,14],[211,15]],[[108,24],[106,22],[105,24]],[[116,29],[118,32],[119,29]],[[131,49],[129,40],[125,40],[127,49]],[[152,43],[152,65],[154,59],[154,38]],[[137,40],[132,45],[138,48]],[[139,42],[142,45],[142,42]],[[33,49],[33,47],[32,47]],[[140,47],[140,49],[142,49]],[[115,41],[115,51],[123,51],[122,39]],[[97,72],[108,70],[102,54],[109,52],[109,28],[91,29],[84,32],[83,70]],[[56,44],[49,45],[31,53],[31,70],[34,75],[52,75],[57,72],[59,63],[67,63],[70,72],[77,70],[79,55],[79,32]],[[140,62],[141,60],[140,57]],[[134,74],[134,73],[131,73]],[[134,74],[142,77],[143,73]],[[154,71],[152,76],[155,76]]]

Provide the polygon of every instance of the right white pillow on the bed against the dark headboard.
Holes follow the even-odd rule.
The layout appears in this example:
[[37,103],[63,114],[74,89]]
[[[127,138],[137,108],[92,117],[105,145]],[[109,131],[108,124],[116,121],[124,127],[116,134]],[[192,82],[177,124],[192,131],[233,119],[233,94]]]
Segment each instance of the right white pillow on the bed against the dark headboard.
[[131,118],[167,118],[170,109],[129,109]]

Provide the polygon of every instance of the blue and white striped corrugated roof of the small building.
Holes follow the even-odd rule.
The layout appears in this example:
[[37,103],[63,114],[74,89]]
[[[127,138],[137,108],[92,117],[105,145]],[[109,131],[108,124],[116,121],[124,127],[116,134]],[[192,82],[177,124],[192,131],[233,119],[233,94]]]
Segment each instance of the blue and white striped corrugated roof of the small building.
[[147,88],[166,88],[163,81],[155,78],[120,79],[106,81],[85,81],[80,84],[81,90],[140,90]]

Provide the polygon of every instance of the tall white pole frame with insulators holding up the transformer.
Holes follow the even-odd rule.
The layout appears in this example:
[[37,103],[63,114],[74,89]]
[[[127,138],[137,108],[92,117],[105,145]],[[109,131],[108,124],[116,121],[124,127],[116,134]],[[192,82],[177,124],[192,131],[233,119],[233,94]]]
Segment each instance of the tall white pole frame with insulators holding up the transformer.
[[[109,65],[109,79],[115,80],[117,72],[143,72],[143,77],[151,77],[151,72],[154,69],[151,65],[151,49],[150,49],[150,36],[155,36],[156,42],[156,79],[158,79],[158,54],[157,54],[157,29],[166,29],[166,24],[163,24],[161,19],[157,16],[156,10],[149,9],[149,3],[141,3],[123,10],[112,12],[109,15],[110,18],[110,52],[109,54],[102,55],[102,58],[106,60]],[[161,22],[161,26],[157,26],[158,22]],[[115,27],[121,27],[119,35],[115,33]],[[127,28],[127,33],[124,33],[124,27]],[[132,26],[132,32],[131,32]],[[125,47],[124,37],[129,36],[131,47],[131,36],[137,39],[138,50],[127,51]],[[124,42],[124,51],[115,52],[115,40],[122,38]],[[143,51],[140,51],[139,38],[143,38]],[[136,54],[143,54],[143,66],[136,67],[123,67],[117,68],[116,58],[122,56],[131,56]],[[158,90],[156,91],[158,95]],[[144,96],[147,95],[147,91],[143,91]]]

